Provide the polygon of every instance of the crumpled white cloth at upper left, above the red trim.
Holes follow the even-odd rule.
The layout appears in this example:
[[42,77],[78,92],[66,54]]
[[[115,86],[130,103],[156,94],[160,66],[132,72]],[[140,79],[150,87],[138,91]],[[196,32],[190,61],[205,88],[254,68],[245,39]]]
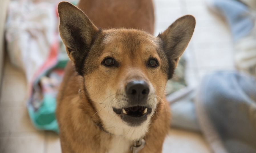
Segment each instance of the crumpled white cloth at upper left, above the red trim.
[[49,56],[56,39],[56,7],[50,3],[11,1],[5,25],[11,64],[21,68],[31,83]]

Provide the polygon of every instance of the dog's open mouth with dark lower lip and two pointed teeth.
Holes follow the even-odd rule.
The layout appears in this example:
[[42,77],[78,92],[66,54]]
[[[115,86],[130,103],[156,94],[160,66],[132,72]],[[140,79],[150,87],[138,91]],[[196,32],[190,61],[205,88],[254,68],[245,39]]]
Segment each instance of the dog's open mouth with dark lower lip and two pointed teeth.
[[132,106],[126,108],[113,108],[113,111],[131,127],[140,126],[147,120],[148,114],[151,114],[152,108],[145,106]]

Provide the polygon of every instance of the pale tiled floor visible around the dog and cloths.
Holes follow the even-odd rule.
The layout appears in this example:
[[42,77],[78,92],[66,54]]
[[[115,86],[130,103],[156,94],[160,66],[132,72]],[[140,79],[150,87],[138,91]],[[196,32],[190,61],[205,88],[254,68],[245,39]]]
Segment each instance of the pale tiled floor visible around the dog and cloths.
[[[233,70],[233,46],[225,21],[208,10],[204,0],[155,0],[155,35],[176,18],[192,14],[197,20],[192,40],[186,50],[189,57],[188,81],[197,82],[214,70]],[[26,109],[27,85],[21,70],[5,61],[0,99],[1,153],[58,153],[58,135],[37,131]],[[207,153],[209,146],[199,133],[171,129],[164,152]]]

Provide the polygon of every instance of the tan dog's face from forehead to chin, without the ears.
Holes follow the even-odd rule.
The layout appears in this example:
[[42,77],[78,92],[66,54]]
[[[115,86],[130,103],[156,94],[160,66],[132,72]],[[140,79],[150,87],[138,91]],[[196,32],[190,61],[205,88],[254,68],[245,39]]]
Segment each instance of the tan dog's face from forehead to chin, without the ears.
[[[88,53],[85,62],[95,64],[84,74],[88,95],[94,104],[99,103],[95,107],[106,131],[118,135],[130,129],[145,132],[168,77],[167,58],[158,53],[160,40],[137,30],[101,34],[101,43],[92,48],[95,51]],[[133,137],[137,139],[138,134]]]

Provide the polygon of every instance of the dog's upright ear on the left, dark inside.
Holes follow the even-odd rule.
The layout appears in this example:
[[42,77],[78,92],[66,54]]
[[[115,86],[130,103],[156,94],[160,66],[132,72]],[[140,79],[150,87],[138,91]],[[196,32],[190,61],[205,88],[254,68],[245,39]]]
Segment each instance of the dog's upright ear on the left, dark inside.
[[92,38],[98,28],[76,6],[68,2],[58,5],[60,16],[60,37],[66,46],[70,60],[79,75],[83,75],[84,60],[92,45]]

